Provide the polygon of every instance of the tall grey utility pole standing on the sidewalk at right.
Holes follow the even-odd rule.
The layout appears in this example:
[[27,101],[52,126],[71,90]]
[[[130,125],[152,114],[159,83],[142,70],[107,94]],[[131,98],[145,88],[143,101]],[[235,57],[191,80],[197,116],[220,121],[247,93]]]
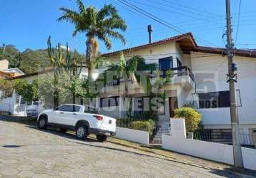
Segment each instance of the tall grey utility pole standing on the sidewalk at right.
[[232,142],[233,142],[233,157],[235,169],[243,167],[242,150],[240,144],[240,130],[237,120],[237,98],[235,83],[237,82],[237,74],[235,70],[237,67],[233,63],[233,46],[232,43],[232,29],[231,29],[231,15],[230,15],[230,0],[226,0],[226,16],[227,16],[227,57],[228,57],[228,80],[230,83],[230,117],[232,127]]

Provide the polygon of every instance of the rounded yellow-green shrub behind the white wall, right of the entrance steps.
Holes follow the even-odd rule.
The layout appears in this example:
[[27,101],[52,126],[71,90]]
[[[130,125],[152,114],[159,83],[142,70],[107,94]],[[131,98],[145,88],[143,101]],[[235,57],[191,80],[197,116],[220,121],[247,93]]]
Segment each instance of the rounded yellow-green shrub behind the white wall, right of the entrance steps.
[[202,115],[193,108],[184,107],[174,110],[174,117],[184,118],[187,132],[192,132],[198,129]]

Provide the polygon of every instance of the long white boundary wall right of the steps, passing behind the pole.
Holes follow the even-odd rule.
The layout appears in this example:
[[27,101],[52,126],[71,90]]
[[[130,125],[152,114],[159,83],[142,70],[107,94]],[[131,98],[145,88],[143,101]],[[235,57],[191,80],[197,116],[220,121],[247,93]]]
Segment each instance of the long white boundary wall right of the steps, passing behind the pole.
[[[183,119],[171,120],[171,136],[162,135],[162,147],[195,157],[233,164],[231,145],[187,139]],[[242,147],[244,167],[256,170],[256,150]]]

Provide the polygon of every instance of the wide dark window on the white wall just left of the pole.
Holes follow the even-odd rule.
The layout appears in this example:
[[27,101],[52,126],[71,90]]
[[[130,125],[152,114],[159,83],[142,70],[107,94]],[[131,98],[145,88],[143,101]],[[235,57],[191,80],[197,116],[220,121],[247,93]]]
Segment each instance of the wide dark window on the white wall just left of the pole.
[[228,108],[230,107],[230,91],[199,93],[199,108]]

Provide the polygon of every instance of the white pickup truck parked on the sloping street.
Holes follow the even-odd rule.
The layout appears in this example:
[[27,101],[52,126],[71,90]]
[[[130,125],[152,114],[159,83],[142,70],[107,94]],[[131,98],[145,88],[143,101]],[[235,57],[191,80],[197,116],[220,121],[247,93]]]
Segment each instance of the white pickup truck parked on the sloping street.
[[75,130],[79,139],[85,139],[92,133],[100,142],[116,132],[116,119],[87,113],[84,105],[67,104],[56,110],[44,110],[37,117],[37,125],[40,129],[46,129],[47,126],[59,127],[61,132]]

